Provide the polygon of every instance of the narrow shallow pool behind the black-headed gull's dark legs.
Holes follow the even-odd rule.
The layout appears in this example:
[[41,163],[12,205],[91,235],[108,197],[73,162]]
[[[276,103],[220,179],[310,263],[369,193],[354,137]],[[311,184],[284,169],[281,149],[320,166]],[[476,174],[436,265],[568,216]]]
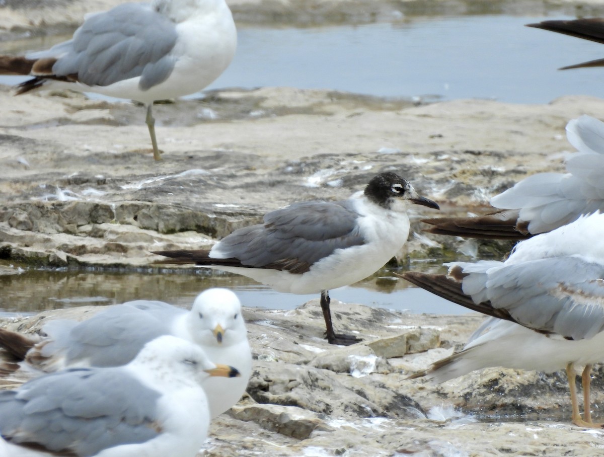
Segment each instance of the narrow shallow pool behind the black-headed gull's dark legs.
[[[19,275],[0,275],[0,316],[33,314],[43,310],[83,305],[109,305],[134,299],[167,301],[190,307],[208,287],[233,289],[246,306],[292,309],[319,294],[279,293],[243,276],[212,270],[155,269],[50,270],[26,269]],[[334,300],[410,313],[462,314],[467,310],[440,297],[412,287],[383,269],[361,283],[330,291]]]

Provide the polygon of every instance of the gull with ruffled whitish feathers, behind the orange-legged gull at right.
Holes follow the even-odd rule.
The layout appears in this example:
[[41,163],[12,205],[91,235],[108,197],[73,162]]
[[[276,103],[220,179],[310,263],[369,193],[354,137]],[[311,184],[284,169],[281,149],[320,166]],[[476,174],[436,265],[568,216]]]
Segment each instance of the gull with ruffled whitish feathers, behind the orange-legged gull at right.
[[537,173],[493,197],[500,211],[478,217],[425,219],[428,232],[471,238],[522,240],[604,210],[604,123],[582,115],[568,122],[567,139],[577,149],[567,173]]

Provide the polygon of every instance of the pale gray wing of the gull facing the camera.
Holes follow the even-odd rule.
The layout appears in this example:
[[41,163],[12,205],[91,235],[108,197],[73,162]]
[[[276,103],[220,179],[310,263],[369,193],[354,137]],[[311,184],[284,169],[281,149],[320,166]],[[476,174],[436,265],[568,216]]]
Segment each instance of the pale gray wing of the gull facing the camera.
[[138,300],[110,307],[76,325],[51,321],[43,331],[53,340],[41,354],[65,353],[68,364],[89,360],[93,366],[125,365],[147,342],[170,333],[172,321],[181,313],[186,311],[164,302]]

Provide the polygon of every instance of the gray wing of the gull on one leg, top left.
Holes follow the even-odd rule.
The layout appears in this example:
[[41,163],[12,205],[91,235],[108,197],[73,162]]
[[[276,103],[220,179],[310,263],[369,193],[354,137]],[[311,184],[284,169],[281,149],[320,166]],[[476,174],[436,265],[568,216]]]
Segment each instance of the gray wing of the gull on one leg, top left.
[[58,76],[77,75],[88,86],[140,76],[144,91],[169,77],[175,63],[170,51],[177,38],[168,18],[149,5],[126,3],[86,19],[72,40],[47,54],[58,57],[53,65]]

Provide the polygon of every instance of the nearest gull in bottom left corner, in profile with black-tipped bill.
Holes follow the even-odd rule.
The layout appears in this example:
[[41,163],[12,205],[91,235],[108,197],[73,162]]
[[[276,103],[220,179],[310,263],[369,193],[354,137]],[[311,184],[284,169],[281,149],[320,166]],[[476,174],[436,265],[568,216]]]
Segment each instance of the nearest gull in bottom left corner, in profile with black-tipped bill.
[[165,335],[128,365],[66,369],[0,391],[0,455],[194,457],[210,425],[208,376],[237,369]]

